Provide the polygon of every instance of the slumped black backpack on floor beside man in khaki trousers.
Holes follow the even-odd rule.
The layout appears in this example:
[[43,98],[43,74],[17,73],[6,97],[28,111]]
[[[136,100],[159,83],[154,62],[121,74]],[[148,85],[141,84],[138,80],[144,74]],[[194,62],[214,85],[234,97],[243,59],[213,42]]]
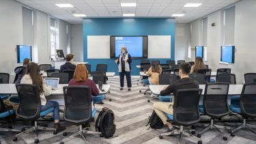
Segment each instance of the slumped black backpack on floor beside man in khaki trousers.
[[155,111],[153,111],[152,115],[148,117],[148,122],[146,126],[148,126],[149,124],[150,124],[150,128],[153,128],[153,129],[160,129],[162,128],[162,126],[164,126],[164,124],[162,123],[162,120],[158,117]]

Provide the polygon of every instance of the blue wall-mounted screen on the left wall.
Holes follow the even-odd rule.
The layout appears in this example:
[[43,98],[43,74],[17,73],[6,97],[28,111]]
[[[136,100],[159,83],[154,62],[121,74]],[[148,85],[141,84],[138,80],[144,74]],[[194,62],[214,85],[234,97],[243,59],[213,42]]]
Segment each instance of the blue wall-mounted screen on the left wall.
[[17,45],[17,62],[22,63],[25,58],[32,61],[32,46]]

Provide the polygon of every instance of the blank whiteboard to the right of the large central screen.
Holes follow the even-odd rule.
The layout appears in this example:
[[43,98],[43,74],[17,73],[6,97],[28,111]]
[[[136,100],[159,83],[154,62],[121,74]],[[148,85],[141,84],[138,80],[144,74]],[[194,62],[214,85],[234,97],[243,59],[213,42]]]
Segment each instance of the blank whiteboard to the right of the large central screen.
[[149,59],[171,58],[171,35],[148,35],[147,42]]

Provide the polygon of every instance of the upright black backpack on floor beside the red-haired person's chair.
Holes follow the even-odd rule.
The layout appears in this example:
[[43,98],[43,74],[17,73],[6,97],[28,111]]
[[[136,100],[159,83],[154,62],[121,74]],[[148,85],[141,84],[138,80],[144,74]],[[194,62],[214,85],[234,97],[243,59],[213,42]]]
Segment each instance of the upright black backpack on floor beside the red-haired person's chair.
[[102,137],[110,138],[115,134],[115,115],[111,109],[103,108],[96,120],[96,131],[101,132]]

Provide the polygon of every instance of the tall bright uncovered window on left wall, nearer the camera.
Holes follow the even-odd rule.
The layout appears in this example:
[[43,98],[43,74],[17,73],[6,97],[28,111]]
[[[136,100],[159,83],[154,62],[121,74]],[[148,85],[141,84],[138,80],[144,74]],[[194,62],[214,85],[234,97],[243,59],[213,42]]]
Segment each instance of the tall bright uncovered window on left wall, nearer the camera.
[[50,24],[50,33],[51,33],[51,55],[55,55],[56,51],[56,20],[55,18],[51,18],[51,24]]

